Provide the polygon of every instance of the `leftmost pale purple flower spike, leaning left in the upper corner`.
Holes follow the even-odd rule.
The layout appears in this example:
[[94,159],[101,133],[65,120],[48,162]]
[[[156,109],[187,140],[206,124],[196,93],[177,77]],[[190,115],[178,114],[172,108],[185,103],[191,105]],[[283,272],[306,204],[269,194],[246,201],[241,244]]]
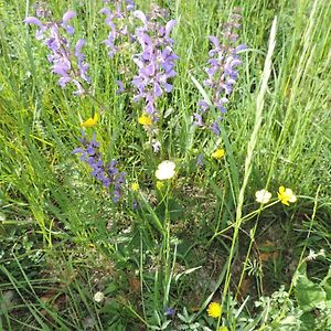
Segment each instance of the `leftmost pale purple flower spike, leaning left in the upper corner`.
[[[41,18],[45,18],[44,12],[36,11]],[[34,24],[39,29],[35,33],[35,39],[41,40],[51,51],[47,55],[49,62],[52,64],[52,71],[60,76],[58,84],[65,87],[68,83],[73,83],[77,90],[75,94],[82,95],[86,93],[84,84],[89,84],[90,78],[87,76],[88,64],[85,62],[85,55],[82,49],[85,45],[85,40],[79,39],[72,51],[67,35],[73,35],[75,29],[70,25],[70,20],[76,15],[74,11],[67,11],[61,22],[49,21],[42,22],[36,17],[29,17],[24,20],[28,24]]]

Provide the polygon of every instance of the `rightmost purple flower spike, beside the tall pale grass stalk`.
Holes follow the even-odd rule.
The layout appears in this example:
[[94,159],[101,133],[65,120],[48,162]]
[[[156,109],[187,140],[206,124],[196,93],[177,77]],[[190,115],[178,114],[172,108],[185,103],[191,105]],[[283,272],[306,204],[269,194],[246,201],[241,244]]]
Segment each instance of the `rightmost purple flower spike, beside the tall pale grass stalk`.
[[209,67],[205,70],[209,77],[204,81],[204,85],[209,87],[212,105],[216,109],[213,122],[211,125],[204,122],[204,118],[207,119],[206,110],[210,109],[206,100],[199,103],[199,111],[194,114],[194,125],[209,127],[215,135],[220,135],[220,121],[226,113],[225,104],[228,103],[228,96],[238,77],[237,66],[242,64],[238,52],[246,49],[243,44],[235,46],[238,40],[236,30],[241,28],[241,15],[235,12],[231,19],[224,26],[224,44],[221,44],[216,36],[210,35],[213,49],[209,52]]

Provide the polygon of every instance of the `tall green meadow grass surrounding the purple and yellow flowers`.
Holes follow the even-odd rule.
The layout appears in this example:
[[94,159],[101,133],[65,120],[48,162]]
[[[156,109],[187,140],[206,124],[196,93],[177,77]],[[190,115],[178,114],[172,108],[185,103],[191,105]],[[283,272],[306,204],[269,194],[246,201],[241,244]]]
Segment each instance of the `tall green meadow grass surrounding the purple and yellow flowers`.
[[[150,2],[137,6],[148,11]],[[216,138],[193,126],[193,114],[207,98],[207,36],[221,35],[234,3],[154,2],[178,22],[180,57],[174,88],[160,103],[159,154],[138,124],[141,107],[117,94],[116,81],[137,67],[131,54],[107,56],[102,1],[46,4],[56,19],[77,12],[94,87],[94,98],[79,98],[57,85],[46,49],[23,23],[33,3],[0,0],[1,330],[177,330],[194,322],[196,330],[225,322],[236,330],[244,312],[252,318],[245,330],[257,330],[267,322],[252,302],[282,284],[291,289],[309,249],[330,250],[331,4],[235,1],[247,50]],[[93,109],[100,121],[88,135],[95,131],[105,158],[127,172],[117,206],[72,154]],[[216,148],[225,149],[220,161],[211,158]],[[177,177],[162,191],[154,171],[166,159],[177,163]],[[280,185],[297,203],[276,203]],[[255,202],[264,188],[276,197],[270,207]],[[322,279],[329,264],[327,254],[310,275]],[[212,300],[224,309],[216,323],[205,313]],[[167,308],[181,318],[164,317]]]

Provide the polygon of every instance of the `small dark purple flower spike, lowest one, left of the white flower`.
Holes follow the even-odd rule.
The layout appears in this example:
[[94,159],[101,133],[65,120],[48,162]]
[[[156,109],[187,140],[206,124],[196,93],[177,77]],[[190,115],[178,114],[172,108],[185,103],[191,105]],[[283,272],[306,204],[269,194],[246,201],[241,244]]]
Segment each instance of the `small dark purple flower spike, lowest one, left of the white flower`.
[[116,168],[116,160],[113,160],[109,164],[104,163],[103,154],[99,151],[99,143],[95,140],[95,135],[88,141],[83,132],[82,138],[78,140],[83,145],[83,148],[76,148],[73,153],[81,153],[81,160],[92,168],[92,177],[100,181],[106,189],[113,188],[113,201],[118,202],[122,194],[126,173],[119,172]]

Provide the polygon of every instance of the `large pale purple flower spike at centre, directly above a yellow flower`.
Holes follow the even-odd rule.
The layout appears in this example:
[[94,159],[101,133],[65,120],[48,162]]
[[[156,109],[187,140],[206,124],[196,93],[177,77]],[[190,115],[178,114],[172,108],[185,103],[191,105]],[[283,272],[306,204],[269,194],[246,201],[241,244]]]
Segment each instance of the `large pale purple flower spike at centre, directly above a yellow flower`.
[[169,79],[177,75],[174,61],[179,58],[173,52],[173,40],[170,38],[177,22],[170,20],[166,25],[161,25],[158,22],[161,14],[164,13],[158,7],[154,7],[153,12],[148,17],[140,10],[134,12],[134,15],[143,24],[135,32],[135,39],[140,44],[141,53],[136,54],[134,58],[139,67],[138,75],[132,79],[132,84],[138,90],[134,100],[145,100],[145,113],[153,121],[158,120],[157,99],[164,92],[172,90]]

